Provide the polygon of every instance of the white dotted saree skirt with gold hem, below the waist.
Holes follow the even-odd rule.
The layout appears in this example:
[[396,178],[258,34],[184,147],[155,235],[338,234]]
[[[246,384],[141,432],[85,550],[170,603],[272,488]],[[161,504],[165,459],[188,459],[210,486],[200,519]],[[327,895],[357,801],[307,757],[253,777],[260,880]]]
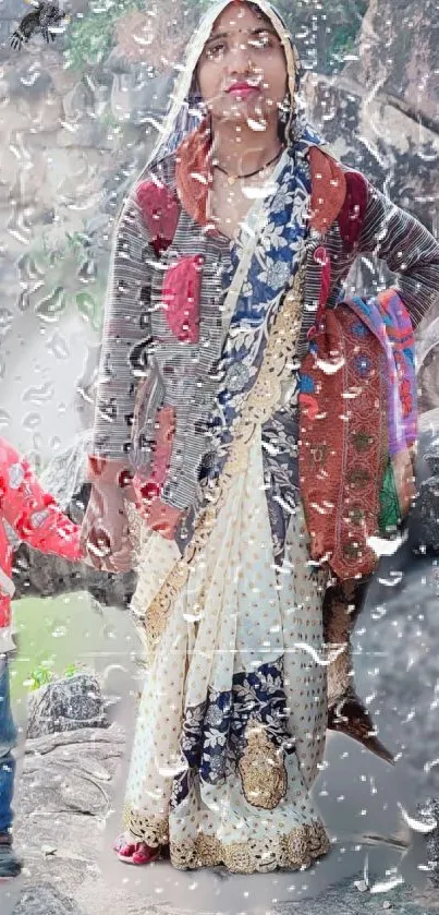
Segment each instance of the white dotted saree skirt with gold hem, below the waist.
[[[173,550],[153,535],[145,552],[154,554],[154,563],[141,555],[136,600],[142,603],[155,590],[151,569],[164,570]],[[298,509],[290,522],[283,566],[276,570],[256,433],[247,467],[235,478],[208,545],[175,601],[138,711],[126,826],[136,841],[169,841],[175,867],[224,864],[242,872],[294,868],[328,850],[309,798],[327,723],[325,582],[307,559]],[[202,717],[209,696],[204,739],[211,747],[223,746],[227,735],[218,727],[222,711],[215,697],[230,694],[234,679],[241,701],[254,705],[255,688],[246,675],[263,670],[260,701],[267,701],[279,687],[270,670],[276,672],[280,661],[286,731],[295,750],[286,748],[282,760],[264,729],[249,720],[239,771],[231,768],[218,784],[194,773],[186,797],[173,808],[174,779],[187,769],[182,720]]]

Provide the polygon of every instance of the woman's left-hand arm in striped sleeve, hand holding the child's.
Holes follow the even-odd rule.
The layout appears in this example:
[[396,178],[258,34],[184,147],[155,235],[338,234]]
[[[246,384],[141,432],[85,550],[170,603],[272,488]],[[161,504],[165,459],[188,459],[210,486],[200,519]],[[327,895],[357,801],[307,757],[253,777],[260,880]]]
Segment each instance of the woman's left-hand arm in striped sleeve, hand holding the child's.
[[133,498],[129,455],[138,378],[132,356],[136,345],[149,336],[153,257],[134,189],[118,221],[110,264],[88,458],[87,477],[93,485],[81,534],[87,558],[95,567],[110,571],[131,568],[124,501]]

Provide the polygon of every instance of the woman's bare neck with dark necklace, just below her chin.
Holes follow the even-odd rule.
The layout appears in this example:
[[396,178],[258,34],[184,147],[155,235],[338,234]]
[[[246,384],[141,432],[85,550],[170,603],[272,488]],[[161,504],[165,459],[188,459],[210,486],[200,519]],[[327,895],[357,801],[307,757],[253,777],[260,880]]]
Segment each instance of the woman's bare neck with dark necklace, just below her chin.
[[258,132],[246,123],[212,120],[212,160],[230,174],[263,169],[282,146],[277,121]]

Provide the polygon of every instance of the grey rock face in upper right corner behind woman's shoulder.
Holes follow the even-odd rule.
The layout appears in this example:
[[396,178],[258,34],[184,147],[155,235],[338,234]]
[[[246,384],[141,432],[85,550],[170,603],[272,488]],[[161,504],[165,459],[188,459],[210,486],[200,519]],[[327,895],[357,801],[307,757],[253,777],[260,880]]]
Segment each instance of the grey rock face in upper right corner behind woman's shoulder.
[[312,117],[344,160],[435,233],[438,31],[435,0],[370,0],[356,59],[336,77],[310,75],[305,87]]

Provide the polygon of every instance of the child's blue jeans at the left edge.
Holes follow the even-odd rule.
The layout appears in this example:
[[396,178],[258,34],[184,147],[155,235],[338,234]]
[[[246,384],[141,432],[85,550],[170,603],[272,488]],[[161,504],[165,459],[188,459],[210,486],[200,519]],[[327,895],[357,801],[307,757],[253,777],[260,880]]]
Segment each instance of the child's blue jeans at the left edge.
[[0,834],[12,827],[12,795],[14,793],[16,729],[12,718],[9,666],[0,655]]

